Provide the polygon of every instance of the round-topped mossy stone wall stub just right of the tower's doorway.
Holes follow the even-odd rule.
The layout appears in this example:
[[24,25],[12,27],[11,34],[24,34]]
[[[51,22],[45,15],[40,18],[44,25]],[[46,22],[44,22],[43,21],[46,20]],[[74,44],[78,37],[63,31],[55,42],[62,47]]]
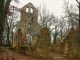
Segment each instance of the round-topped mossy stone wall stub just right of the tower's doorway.
[[47,28],[43,28],[38,35],[38,40],[36,41],[37,55],[41,57],[50,57],[50,43],[50,31]]

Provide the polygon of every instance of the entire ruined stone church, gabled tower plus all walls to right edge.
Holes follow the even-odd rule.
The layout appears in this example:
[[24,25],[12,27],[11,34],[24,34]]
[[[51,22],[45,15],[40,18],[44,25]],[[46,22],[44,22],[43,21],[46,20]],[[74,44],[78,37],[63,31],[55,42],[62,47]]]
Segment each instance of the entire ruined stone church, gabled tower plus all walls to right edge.
[[51,57],[50,52],[63,53],[63,56],[80,57],[80,40],[76,29],[66,32],[64,39],[56,39],[51,45],[51,36],[48,28],[38,24],[38,10],[32,3],[21,8],[18,29],[13,36],[12,47],[18,47],[26,55]]

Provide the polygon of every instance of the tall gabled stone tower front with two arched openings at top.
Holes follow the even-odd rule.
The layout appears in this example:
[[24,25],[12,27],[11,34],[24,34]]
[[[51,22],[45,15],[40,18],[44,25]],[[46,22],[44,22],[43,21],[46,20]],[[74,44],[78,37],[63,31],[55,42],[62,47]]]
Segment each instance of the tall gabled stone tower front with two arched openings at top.
[[[40,32],[41,26],[38,24],[37,21],[38,10],[34,7],[32,3],[28,3],[21,8],[21,18],[17,26],[19,30],[25,30],[25,35],[27,36],[25,40],[28,39],[29,44],[34,45],[34,42],[37,40],[37,35]],[[18,31],[18,33],[20,32]],[[20,39],[18,40],[20,41]],[[13,45],[17,46],[15,42],[13,42]]]

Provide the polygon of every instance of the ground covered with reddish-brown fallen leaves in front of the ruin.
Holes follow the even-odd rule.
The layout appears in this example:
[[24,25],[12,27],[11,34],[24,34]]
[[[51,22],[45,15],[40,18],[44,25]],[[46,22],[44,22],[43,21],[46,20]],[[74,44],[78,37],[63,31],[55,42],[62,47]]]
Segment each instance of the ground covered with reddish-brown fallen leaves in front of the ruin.
[[63,54],[51,53],[52,59],[37,58],[32,56],[25,56],[20,53],[16,53],[6,49],[4,52],[0,52],[0,60],[80,60],[80,58],[64,58]]

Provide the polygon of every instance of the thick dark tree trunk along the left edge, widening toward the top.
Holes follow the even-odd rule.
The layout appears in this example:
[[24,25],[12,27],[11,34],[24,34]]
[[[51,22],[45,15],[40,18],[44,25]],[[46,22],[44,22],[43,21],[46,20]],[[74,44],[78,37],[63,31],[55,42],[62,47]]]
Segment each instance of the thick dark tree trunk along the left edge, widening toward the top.
[[0,43],[2,44],[3,40],[3,31],[5,27],[5,20],[7,18],[8,8],[11,0],[0,0]]

